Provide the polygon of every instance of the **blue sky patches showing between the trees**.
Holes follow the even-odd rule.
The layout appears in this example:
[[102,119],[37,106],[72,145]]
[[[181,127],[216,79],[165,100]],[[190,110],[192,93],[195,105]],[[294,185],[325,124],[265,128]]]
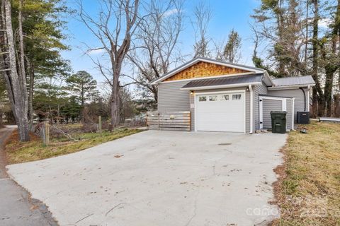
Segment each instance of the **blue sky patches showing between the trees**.
[[[95,0],[84,0],[84,6],[88,13],[93,15],[96,14],[96,4]],[[196,0],[186,0],[184,4],[183,11],[186,15],[186,20],[184,23],[184,30],[181,33],[181,43],[180,48],[182,54],[192,54],[193,43],[194,43],[194,30],[190,23],[190,16],[193,13],[194,6],[198,3]],[[75,8],[76,4],[73,0],[69,0],[68,4],[71,8]],[[251,65],[251,54],[253,51],[253,43],[251,41],[251,29],[249,23],[251,23],[250,15],[254,12],[254,8],[259,6],[259,0],[214,0],[207,1],[210,4],[212,10],[212,18],[208,27],[208,36],[212,40],[220,42],[227,39],[227,35],[230,30],[234,29],[239,32],[242,37],[242,59],[239,61],[240,64]],[[69,16],[67,20],[69,21],[67,27],[67,35],[69,38],[66,40],[72,50],[67,52],[62,52],[62,56],[65,59],[69,59],[72,64],[72,69],[74,71],[85,70],[89,71],[96,80],[101,83],[104,78],[94,69],[94,64],[91,59],[84,55],[84,50],[86,49],[86,44],[91,47],[100,46],[98,40],[91,35],[91,32],[79,22],[75,16]],[[94,53],[95,54],[95,53]],[[98,54],[100,56],[100,54]],[[96,56],[95,56],[96,57]],[[190,58],[189,58],[190,59]],[[128,70],[128,66],[123,68]]]

